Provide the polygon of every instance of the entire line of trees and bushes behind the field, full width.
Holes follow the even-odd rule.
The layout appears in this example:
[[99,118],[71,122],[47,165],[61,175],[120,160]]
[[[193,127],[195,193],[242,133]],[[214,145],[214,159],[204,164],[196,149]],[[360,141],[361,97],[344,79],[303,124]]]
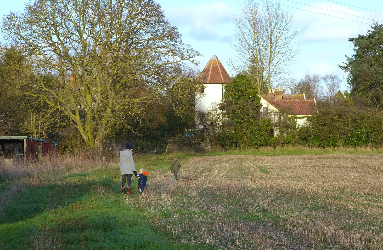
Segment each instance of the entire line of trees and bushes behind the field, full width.
[[[350,89],[342,93],[342,81],[334,74],[277,81],[287,72],[279,62],[297,55],[291,18],[274,5],[262,7],[255,1],[254,13],[244,6],[244,19],[235,20],[239,32],[252,27],[246,15],[262,22],[267,13],[285,16],[282,22],[267,21],[279,25],[286,39],[262,42],[276,39],[267,37],[270,32],[262,29],[270,25],[265,25],[250,45],[262,44],[261,52],[275,46],[287,51],[260,64],[256,56],[262,53],[237,46],[242,56],[233,66],[238,74],[226,85],[222,103],[196,113],[194,98],[201,85],[194,67],[200,54],[183,43],[157,3],[69,2],[40,0],[3,18],[1,32],[9,43],[0,48],[0,135],[59,141],[62,152],[72,153],[126,141],[138,151],[162,152],[383,143],[383,26],[378,23],[366,35],[350,39],[354,55],[340,66],[349,72]],[[237,37],[237,43],[250,33]],[[283,110],[277,123],[261,118],[258,94],[267,93],[268,86],[316,98],[318,115],[309,117],[304,127]],[[279,135],[273,137],[276,129]]]

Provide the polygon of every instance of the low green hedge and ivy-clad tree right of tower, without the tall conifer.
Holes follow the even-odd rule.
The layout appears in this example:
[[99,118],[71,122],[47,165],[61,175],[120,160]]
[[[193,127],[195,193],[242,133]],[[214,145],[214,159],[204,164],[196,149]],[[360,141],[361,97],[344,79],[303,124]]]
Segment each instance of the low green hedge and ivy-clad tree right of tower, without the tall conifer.
[[[299,127],[288,110],[280,110],[274,123],[259,117],[260,97],[246,74],[238,74],[225,89],[223,103],[198,116],[210,148],[383,145],[383,112],[361,104],[365,98],[352,98],[340,90],[322,96],[317,100],[318,115],[308,117]],[[278,136],[273,137],[273,130]]]

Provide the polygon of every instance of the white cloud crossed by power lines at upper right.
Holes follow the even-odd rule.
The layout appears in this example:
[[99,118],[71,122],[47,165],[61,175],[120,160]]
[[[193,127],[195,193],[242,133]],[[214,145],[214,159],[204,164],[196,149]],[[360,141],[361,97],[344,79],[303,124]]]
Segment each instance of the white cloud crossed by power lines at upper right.
[[[368,13],[363,13],[331,3],[317,3],[313,6],[335,10],[337,12],[349,13],[357,16],[369,17]],[[365,33],[365,31],[368,28],[368,25],[364,23],[372,23],[372,20],[345,15],[342,13],[332,12],[319,8],[313,8],[309,6],[305,6],[302,9],[303,10],[298,10],[294,15],[295,24],[300,34],[301,41],[347,40],[348,38],[355,37],[360,33]],[[331,16],[338,16],[341,18],[361,21],[364,23],[357,23],[354,21],[344,20],[331,16],[306,12],[304,10],[310,10],[313,12],[319,12]]]

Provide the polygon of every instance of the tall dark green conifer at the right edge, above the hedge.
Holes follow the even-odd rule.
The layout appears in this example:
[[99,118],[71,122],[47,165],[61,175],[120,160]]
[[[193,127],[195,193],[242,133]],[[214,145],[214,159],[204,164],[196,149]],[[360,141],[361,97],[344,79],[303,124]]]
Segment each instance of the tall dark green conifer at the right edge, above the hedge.
[[383,108],[383,24],[374,23],[366,35],[350,38],[354,55],[339,66],[349,72],[347,83],[351,94],[365,97],[379,109]]

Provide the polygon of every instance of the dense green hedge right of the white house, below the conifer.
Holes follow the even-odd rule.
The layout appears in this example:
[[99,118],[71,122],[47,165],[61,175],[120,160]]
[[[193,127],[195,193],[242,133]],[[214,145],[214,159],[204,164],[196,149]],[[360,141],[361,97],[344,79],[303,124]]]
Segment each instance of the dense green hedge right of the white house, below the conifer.
[[334,100],[318,105],[318,110],[298,130],[300,143],[316,147],[382,145],[383,114],[355,107],[347,93],[338,92]]

